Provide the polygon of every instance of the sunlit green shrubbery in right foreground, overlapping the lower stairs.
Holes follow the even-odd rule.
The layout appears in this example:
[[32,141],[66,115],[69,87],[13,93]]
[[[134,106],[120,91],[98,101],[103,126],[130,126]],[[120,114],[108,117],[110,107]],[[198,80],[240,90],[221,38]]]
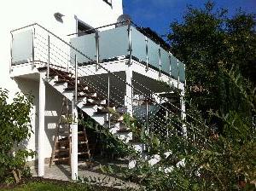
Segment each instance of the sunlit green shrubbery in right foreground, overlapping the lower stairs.
[[[254,111],[255,90],[250,84],[234,71],[221,72],[241,101]],[[160,162],[151,166],[137,159],[137,167],[126,171],[125,177],[139,182],[145,190],[255,189],[256,130],[252,118],[231,109],[229,113],[210,111],[208,121],[214,118],[223,124],[222,133],[214,134],[214,130],[200,122],[203,118],[195,107],[190,106],[188,113],[189,123],[180,121],[187,125],[188,137],[172,134],[166,140],[154,135],[158,144],[146,143],[160,155]],[[166,152],[172,153],[166,157]],[[154,153],[149,152],[148,157],[152,158]]]

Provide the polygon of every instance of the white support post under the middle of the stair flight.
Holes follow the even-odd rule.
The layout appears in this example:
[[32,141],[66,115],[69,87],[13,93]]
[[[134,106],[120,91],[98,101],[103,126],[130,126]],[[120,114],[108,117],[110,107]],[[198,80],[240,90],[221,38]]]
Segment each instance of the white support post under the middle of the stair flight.
[[73,101],[73,120],[72,124],[70,125],[71,127],[71,174],[72,174],[72,180],[77,180],[79,176],[79,158],[78,158],[78,107],[76,106],[75,101]]

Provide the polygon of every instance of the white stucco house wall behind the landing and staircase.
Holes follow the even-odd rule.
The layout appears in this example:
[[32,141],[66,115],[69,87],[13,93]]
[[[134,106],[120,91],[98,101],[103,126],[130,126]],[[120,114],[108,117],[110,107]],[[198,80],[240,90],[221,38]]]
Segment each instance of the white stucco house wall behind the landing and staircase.
[[[10,91],[10,98],[15,92],[31,91],[36,97],[32,109],[32,126],[35,133],[38,128],[38,82],[29,79],[11,79],[9,75],[10,63],[10,31],[37,22],[51,32],[55,32],[61,38],[68,40],[67,34],[76,32],[76,18],[84,23],[97,27],[116,22],[120,14],[123,14],[122,0],[113,0],[112,7],[102,0],[7,0],[1,3],[0,11],[0,88]],[[64,14],[63,23],[55,20],[54,14]],[[46,110],[48,113],[56,113],[61,108],[61,96],[51,87],[46,89]],[[47,116],[45,139],[45,157],[50,156],[52,134],[49,126],[57,120],[54,116]],[[37,136],[33,135],[27,148],[37,150]]]

